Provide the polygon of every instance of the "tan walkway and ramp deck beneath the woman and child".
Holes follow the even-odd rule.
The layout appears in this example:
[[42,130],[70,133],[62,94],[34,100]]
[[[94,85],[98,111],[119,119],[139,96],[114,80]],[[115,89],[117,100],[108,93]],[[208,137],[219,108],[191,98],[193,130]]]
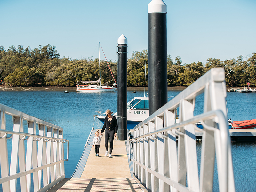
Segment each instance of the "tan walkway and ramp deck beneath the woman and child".
[[104,143],[103,133],[100,157],[95,156],[95,149],[92,147],[80,178],[65,178],[48,192],[142,192],[131,176],[125,141],[114,140],[112,158],[104,156]]

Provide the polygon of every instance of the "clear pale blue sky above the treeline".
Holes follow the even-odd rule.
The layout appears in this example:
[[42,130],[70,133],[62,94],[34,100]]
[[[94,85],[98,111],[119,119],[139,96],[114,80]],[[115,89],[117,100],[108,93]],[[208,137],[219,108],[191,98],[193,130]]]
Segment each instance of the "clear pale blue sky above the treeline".
[[[256,52],[256,0],[165,0],[167,54],[183,63],[226,60]],[[61,57],[117,60],[121,34],[128,57],[148,49],[150,0],[0,0],[0,45],[56,46]],[[103,54],[101,53],[101,59]]]

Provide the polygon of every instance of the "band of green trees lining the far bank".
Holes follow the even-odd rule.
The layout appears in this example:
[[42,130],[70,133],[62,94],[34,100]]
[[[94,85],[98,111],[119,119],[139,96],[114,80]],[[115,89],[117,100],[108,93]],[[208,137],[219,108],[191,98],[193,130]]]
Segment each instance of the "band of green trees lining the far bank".
[[[145,66],[146,63],[146,66]],[[117,81],[117,62],[101,60],[101,83],[113,80],[109,67]],[[244,86],[250,82],[256,85],[256,53],[244,61],[242,56],[236,59],[221,61],[209,58],[205,64],[193,62],[183,64],[181,57],[172,60],[167,55],[168,86],[189,86],[211,68],[221,67],[225,70],[226,84]],[[146,86],[148,86],[148,51],[134,51],[127,61],[127,85],[144,86],[146,69]],[[23,48],[23,45],[9,47],[0,46],[0,79],[11,86],[75,86],[81,81],[99,79],[99,59],[60,58],[56,48],[51,45],[34,48]],[[114,81],[109,82],[112,84]]]

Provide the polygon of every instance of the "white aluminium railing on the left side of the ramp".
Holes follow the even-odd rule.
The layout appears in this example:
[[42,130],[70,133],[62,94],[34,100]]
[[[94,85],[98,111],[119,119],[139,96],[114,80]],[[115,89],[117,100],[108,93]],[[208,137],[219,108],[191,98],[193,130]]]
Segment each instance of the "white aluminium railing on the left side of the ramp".
[[[12,117],[12,131],[9,127],[6,129],[10,124],[6,123],[6,115]],[[24,121],[27,121],[27,127],[24,127]],[[7,142],[8,139],[12,141]],[[66,159],[64,143],[67,143]],[[8,148],[11,148],[11,154]],[[44,192],[52,188],[65,178],[64,162],[68,161],[68,149],[63,128],[0,104],[0,184],[4,192],[15,192],[18,178],[20,190],[24,192],[31,191],[32,180],[34,191]]]

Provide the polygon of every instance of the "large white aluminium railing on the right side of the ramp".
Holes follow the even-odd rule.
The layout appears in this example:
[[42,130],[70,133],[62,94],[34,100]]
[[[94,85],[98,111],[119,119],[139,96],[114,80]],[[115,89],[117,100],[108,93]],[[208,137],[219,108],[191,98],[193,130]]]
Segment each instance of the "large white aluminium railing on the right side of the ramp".
[[[196,97],[202,93],[204,113],[194,116]],[[224,69],[212,68],[134,128],[133,176],[141,187],[152,192],[211,192],[216,154],[219,191],[235,191],[226,94]],[[180,123],[175,123],[177,108]],[[195,132],[203,132],[200,174]]]

